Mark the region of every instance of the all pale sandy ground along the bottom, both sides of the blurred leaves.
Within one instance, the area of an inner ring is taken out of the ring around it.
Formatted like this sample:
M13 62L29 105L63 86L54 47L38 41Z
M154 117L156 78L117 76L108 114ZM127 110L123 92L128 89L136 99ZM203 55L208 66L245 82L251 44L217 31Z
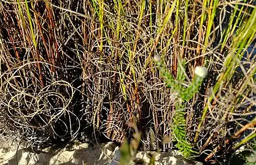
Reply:
M136 155L136 162L150 162L149 155L155 155L155 164L202 164L193 163L185 160L177 151L168 153L157 152L139 152ZM27 149L25 144L20 144L15 136L1 137L0 136L0 165L90 165L90 164L108 164L117 165L120 160L119 148L112 142L98 145L89 145L87 143L72 145L64 149L52 149L48 147L40 153L33 153L31 149ZM141 161L143 160L143 161ZM135 164L130 161L130 164Z

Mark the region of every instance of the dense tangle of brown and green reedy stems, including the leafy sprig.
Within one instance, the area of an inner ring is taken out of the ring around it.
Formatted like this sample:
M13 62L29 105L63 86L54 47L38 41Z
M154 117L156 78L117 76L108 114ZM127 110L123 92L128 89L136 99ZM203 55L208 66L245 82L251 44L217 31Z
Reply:
M13 0L0 10L1 133L35 150L122 143L134 121L138 150L213 163L253 145L254 0Z

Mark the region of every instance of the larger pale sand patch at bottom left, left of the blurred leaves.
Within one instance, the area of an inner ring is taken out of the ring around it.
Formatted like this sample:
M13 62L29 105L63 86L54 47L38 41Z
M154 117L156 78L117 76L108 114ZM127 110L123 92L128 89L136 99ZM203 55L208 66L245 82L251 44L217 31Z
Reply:
M45 164L109 164L114 155L116 145L113 143L89 146L89 144L77 144L69 149L54 150L51 147L34 154L31 149L26 149L12 138L0 140L0 164L3 165L45 165ZM18 150L17 150L18 147Z

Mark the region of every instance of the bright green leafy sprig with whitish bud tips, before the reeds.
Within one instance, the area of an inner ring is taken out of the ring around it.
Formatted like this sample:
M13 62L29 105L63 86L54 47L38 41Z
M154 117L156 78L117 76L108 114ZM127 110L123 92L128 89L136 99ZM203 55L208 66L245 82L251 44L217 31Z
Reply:
M184 76L184 62L180 62L177 70L177 79L174 80L173 75L169 73L166 69L165 64L159 55L154 57L158 69L160 70L160 75L165 78L166 86L171 88L171 92L176 97L175 104L175 114L173 122L173 133L177 140L176 147L182 152L182 154L187 158L192 156L192 153L196 153L192 149L192 145L187 141L187 132L185 128L185 101L190 100L193 95L198 92L198 88L203 81L203 78L207 75L207 70L204 67L195 68L195 78L193 78L192 83L188 87L182 86L185 82Z

